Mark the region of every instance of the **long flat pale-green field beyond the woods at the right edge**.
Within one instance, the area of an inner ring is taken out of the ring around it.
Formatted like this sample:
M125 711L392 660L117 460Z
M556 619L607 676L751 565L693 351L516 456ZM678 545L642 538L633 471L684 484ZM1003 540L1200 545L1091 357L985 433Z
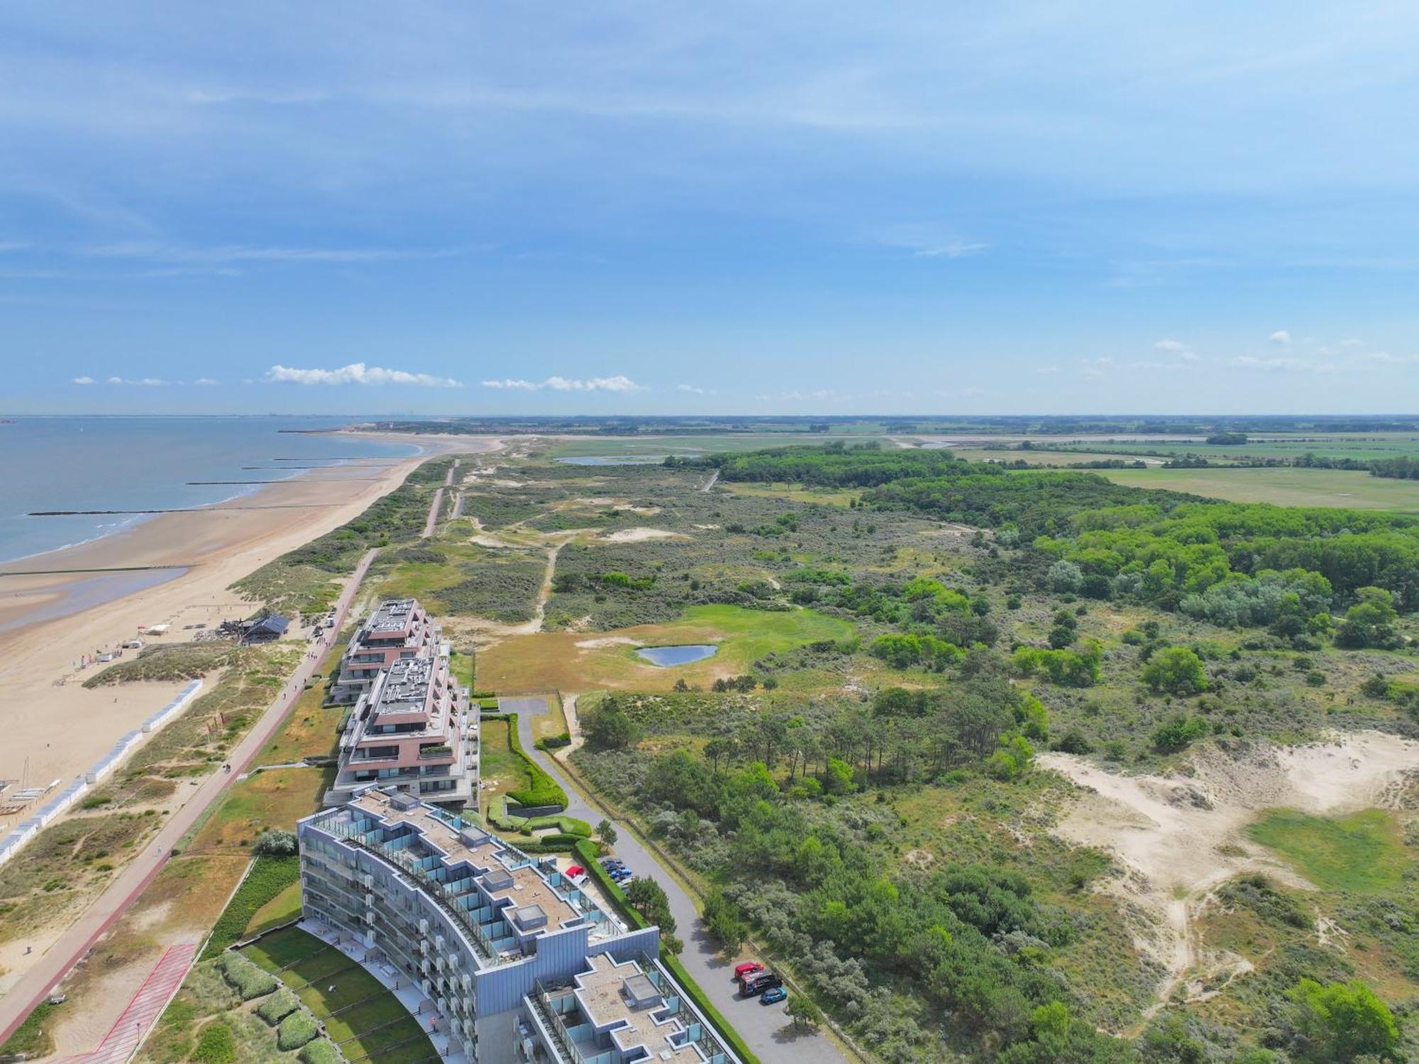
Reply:
M1349 470L1100 470L1114 484L1277 506L1419 511L1419 481Z

